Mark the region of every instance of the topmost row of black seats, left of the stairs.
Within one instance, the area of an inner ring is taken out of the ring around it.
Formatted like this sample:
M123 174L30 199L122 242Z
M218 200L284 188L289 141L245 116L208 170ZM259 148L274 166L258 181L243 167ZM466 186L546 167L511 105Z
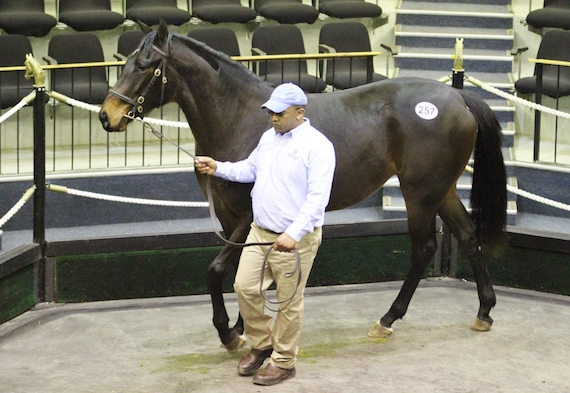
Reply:
M126 0L123 14L111 10L110 0L57 0L59 22L77 31L108 30L126 19L140 20L149 26L163 19L180 26L192 17L210 23L247 23L262 16L279 23L314 23L319 13L334 18L379 17L382 8L365 0L188 0L188 10L178 8L177 0ZM0 28L8 34L43 37L58 19L45 12L44 0L0 1Z

